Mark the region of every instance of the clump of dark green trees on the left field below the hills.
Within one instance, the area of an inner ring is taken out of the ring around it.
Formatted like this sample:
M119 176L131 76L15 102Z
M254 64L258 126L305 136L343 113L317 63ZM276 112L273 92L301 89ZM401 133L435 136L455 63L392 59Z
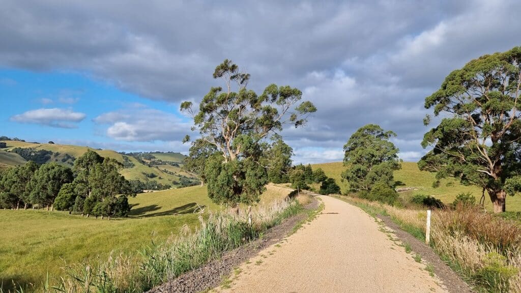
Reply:
M92 150L79 157L72 168L56 163L29 161L0 172L0 207L46 207L90 216L126 216L129 196L135 196L118 169L122 165Z

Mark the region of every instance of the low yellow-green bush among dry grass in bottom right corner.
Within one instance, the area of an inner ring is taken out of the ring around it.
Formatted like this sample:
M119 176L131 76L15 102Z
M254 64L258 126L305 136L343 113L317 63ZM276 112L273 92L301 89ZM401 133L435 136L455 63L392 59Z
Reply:
M474 277L475 281L487 288L489 292L510 291L508 281L517 275L518 269L507 265L506 258L497 252L487 253L483 262L485 266L478 270Z

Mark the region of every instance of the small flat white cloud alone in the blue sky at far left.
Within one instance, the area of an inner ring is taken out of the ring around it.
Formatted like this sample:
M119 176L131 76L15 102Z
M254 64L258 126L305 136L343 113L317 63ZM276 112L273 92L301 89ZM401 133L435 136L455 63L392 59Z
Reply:
M59 128L76 128L77 123L85 119L85 116L84 113L73 112L72 109L41 108L12 116L11 120Z

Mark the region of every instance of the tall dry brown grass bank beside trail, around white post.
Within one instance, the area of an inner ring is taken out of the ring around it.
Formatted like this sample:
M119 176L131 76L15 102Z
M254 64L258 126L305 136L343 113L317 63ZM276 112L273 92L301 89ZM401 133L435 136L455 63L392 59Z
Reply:
M371 215L389 215L403 230L425 240L425 210L399 209L339 197ZM521 225L479 207L432 212L431 247L478 291L521 292Z

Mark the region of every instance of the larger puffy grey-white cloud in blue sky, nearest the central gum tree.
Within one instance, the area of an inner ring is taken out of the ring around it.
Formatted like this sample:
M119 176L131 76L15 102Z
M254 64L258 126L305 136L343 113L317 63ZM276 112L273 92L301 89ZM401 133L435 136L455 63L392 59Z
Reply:
M94 122L106 126L106 136L122 141L181 141L190 129L178 116L144 105L104 113Z

